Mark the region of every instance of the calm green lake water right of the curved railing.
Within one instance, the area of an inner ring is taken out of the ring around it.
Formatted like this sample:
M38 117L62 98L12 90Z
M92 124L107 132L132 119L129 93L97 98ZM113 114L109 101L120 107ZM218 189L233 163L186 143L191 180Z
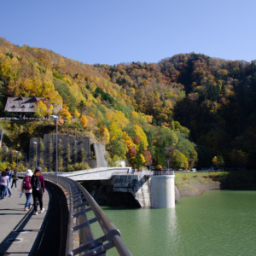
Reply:
M214 190L179 201L175 209L103 210L134 256L256 255L256 191Z

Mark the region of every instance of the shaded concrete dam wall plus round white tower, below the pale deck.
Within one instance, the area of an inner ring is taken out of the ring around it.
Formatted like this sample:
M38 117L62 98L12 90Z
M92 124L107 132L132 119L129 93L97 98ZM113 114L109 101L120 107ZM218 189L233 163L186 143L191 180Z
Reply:
M102 206L175 207L173 175L116 175L111 180L91 183L89 190Z

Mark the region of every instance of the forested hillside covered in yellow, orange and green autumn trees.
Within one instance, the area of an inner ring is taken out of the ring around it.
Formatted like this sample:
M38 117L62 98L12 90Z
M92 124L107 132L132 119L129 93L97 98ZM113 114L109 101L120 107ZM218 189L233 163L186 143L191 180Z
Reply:
M254 168L255 64L191 53L91 66L0 38L2 114L7 96L62 100L60 131L106 144L112 165L125 159L137 168L167 166L165 160L173 168L207 167L217 156L217 166L224 159L224 166ZM42 120L30 137L44 125L54 131ZM12 129L5 143L19 148Z

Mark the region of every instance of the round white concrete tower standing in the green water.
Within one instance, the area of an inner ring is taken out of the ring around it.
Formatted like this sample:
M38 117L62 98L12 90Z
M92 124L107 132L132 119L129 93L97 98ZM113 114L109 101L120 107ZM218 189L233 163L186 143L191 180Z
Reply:
M175 175L151 176L151 207L175 208Z

